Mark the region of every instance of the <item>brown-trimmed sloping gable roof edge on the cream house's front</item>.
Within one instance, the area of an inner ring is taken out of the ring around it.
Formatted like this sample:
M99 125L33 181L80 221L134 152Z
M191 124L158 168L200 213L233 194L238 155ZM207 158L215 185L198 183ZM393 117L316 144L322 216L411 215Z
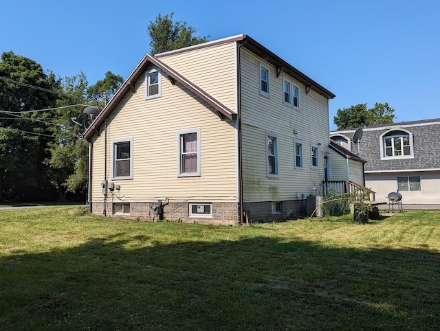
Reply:
M155 56L146 54L140 64L137 65L135 70L130 74L129 78L127 78L124 84L122 84L118 92L113 95L113 98L111 98L109 104L104 107L91 126L87 128L84 134L85 139L90 139L94 134L99 133L100 126L104 124L105 119L107 119L107 117L109 117L109 115L115 110L116 106L118 106L118 104L122 101L126 93L129 93L129 91L136 91L135 84L137 80L144 75L144 71L146 71L150 65L155 65L155 67L161 69L163 73L166 73L166 78L168 78L172 84L179 82L203 101L207 102L210 106L212 106L212 108L215 109L215 111L217 111L217 115L219 115L219 117L222 119L224 117L227 117L228 119L236 119L236 113L231 111L227 106L197 87L196 84L193 84L184 78L184 76L181 76L177 71L166 65L164 62L158 58L155 58Z

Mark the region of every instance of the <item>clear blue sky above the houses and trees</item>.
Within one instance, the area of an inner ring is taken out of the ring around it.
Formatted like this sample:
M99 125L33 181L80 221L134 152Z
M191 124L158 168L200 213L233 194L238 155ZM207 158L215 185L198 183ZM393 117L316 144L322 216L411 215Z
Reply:
M395 122L440 117L437 0L14 0L0 4L0 53L57 76L124 79L148 53L146 26L174 12L210 41L248 34L336 94L337 109L388 102Z

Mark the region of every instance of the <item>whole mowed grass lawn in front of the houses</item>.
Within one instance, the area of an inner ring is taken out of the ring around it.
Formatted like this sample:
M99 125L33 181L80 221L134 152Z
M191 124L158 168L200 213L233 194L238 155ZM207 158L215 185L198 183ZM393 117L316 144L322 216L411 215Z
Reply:
M0 211L0 330L439 330L440 211L249 227Z

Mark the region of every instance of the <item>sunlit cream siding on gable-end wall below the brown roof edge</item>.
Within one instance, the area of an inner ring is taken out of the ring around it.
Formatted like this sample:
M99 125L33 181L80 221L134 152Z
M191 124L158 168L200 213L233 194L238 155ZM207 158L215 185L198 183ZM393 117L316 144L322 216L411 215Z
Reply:
M144 77L107 119L107 178L111 181L111 139L133 137L133 179L113 180L113 202L236 202L236 130L180 84L162 77L162 97L145 100ZM177 131L200 129L201 176L177 176ZM92 201L102 201L105 133L95 139Z

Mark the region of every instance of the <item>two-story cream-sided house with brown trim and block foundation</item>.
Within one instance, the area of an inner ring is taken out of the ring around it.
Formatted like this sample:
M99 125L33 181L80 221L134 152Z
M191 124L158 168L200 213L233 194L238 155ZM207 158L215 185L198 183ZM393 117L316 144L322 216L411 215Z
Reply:
M224 225L301 214L325 179L334 97L245 35L147 54L85 133L89 208Z

